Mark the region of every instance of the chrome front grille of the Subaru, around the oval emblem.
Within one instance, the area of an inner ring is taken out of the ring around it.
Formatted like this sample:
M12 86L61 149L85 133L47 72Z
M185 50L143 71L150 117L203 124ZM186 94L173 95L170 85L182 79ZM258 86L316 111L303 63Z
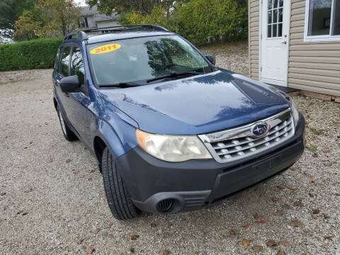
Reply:
M263 137L254 137L254 125L266 124L269 131ZM217 162L233 162L263 152L293 137L295 132L290 109L239 128L199 135Z

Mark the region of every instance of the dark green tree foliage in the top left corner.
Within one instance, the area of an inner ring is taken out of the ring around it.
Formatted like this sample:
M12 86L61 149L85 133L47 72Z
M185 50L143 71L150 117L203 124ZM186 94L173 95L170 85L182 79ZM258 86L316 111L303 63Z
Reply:
M0 29L14 28L14 24L23 11L34 8L34 0L1 0L0 1Z

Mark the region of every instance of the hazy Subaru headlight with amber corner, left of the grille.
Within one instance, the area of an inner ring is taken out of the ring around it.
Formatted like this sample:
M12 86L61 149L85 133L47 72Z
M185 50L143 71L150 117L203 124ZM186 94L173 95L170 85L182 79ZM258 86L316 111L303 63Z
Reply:
M145 152L167 162L212 158L196 135L156 135L136 130L136 137Z

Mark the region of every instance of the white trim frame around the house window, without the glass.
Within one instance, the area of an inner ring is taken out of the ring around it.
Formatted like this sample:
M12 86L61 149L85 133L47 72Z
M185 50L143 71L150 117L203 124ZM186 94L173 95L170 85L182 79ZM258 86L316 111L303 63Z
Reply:
M331 24L329 28L329 33L333 30L334 24L334 4L335 0L331 1ZM308 35L310 21L310 0L306 0L305 7L305 31L304 31L304 42L340 42L340 35Z

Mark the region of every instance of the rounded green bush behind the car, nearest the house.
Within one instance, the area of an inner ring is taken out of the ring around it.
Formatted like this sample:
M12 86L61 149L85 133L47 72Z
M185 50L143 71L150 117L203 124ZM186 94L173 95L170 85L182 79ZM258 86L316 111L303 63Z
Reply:
M193 0L176 11L178 33L197 45L242 40L247 36L246 8L234 0Z

